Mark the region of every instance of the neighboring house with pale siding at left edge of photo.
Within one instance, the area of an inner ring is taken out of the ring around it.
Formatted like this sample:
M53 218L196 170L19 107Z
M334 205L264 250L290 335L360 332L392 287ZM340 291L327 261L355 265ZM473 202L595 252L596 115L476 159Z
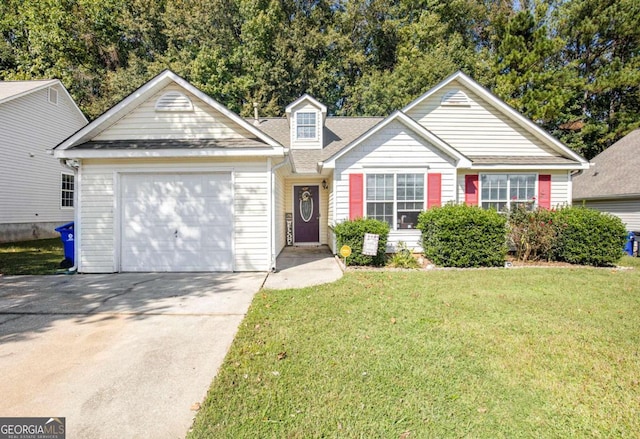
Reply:
M0 242L60 236L74 172L50 150L87 124L57 79L0 81Z

